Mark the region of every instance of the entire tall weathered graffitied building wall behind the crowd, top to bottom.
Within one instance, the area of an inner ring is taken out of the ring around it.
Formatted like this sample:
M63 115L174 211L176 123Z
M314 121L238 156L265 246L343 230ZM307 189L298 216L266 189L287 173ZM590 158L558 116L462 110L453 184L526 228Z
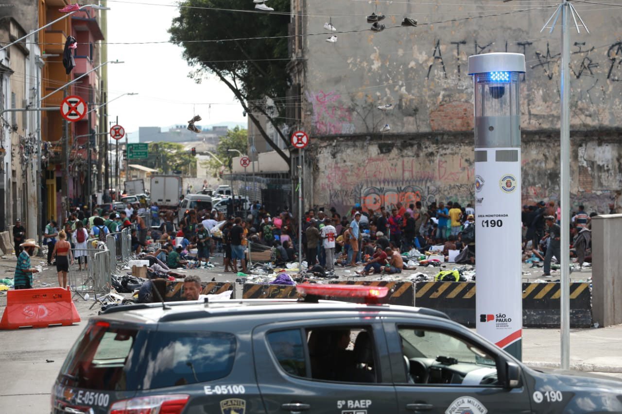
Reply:
M473 80L468 56L524 53L522 199L559 195L560 27L556 4L292 0L288 118L312 137L310 205L473 203ZM622 203L622 43L618 14L575 4L590 29L570 30L571 202ZM381 32L366 16L383 14ZM325 40L330 18L336 43ZM404 17L418 27L402 27ZM316 35L325 32L325 35ZM383 111L378 106L391 104ZM381 132L384 126L390 130Z

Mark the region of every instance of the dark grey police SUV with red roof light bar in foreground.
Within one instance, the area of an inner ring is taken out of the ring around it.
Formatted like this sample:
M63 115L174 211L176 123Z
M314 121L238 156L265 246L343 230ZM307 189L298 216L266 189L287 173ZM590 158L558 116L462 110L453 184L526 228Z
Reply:
M304 300L104 311L69 352L51 412L622 412L619 380L530 369L443 313L379 304L386 288L297 289Z

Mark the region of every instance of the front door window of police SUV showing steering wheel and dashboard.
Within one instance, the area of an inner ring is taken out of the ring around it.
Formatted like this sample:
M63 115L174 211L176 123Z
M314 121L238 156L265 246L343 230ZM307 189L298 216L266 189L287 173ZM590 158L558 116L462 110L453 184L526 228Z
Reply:
M498 385L494 358L451 334L399 326L404 369L411 384Z

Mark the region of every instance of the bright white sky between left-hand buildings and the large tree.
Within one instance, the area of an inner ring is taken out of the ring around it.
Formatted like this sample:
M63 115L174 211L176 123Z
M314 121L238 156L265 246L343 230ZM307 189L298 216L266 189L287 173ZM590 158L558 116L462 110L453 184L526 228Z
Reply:
M179 16L179 9L131 4L131 1L108 2L108 42L169 40L167 29L172 19ZM174 0L148 2L174 4ZM246 125L243 108L226 85L213 76L200 84L188 78L192 69L183 59L181 47L112 44L108 45L108 60L125 62L108 64L108 100L127 92L138 93L116 99L108 106L109 121L118 116L119 124L130 132L130 142L138 139L139 126L185 124L195 114L202 117L200 125L219 122Z

